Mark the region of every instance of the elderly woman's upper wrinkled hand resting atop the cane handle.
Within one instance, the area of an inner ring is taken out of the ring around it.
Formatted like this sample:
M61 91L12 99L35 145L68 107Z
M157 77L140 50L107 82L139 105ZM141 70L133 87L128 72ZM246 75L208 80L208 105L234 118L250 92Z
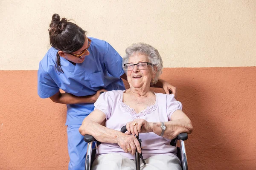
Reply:
M135 119L134 121L128 122L126 124L126 129L128 132L126 134L139 135L139 133L148 133L153 131L153 125L151 122L145 119Z

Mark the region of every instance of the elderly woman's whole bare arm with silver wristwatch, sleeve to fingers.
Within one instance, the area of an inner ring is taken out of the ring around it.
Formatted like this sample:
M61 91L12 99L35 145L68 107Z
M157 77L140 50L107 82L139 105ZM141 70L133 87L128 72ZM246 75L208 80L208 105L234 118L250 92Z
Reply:
M134 123L137 122L137 123ZM148 133L154 132L160 136L162 133L161 122L147 122L144 119L136 119L133 122L128 122L126 124L128 134L138 135L138 133ZM180 133L192 133L193 126L185 113L181 110L176 110L172 116L171 121L164 122L166 125L166 130L163 137L166 139L174 139Z

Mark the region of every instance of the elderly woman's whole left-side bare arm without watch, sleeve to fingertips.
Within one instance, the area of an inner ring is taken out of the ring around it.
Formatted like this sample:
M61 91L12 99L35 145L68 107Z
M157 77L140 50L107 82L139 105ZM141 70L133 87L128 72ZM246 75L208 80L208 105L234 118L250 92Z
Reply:
M118 144L126 153L135 154L136 148L141 153L140 143L135 136L100 125L105 119L106 115L96 109L84 119L79 127L79 132L83 136L92 135L99 142ZM131 148L131 150L127 148Z

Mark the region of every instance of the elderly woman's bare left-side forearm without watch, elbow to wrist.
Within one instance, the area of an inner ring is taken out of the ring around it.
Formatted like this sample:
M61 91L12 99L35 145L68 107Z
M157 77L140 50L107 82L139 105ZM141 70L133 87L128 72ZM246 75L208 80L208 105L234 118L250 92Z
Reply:
M109 129L94 121L84 121L79 128L79 132L83 136L92 135L97 141L104 143L117 143L118 138L124 135L122 132Z

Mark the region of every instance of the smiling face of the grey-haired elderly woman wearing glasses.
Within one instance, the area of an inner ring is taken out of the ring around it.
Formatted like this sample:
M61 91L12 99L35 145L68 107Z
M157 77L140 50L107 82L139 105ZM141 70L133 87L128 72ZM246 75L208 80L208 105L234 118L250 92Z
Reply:
M133 64L140 62L149 62L148 57L140 53L135 53L128 60L128 63ZM134 65L133 70L127 71L127 81L130 87L133 88L149 89L152 77L154 77L154 73L151 65L147 65L143 70L140 70L137 65Z

